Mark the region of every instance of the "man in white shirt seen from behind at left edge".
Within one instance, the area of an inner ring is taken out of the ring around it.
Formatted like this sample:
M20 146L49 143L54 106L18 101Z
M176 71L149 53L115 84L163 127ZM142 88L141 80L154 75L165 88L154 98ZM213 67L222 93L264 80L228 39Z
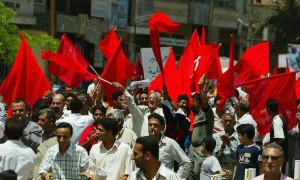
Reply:
M7 141L0 144L0 172L11 169L18 174L19 180L32 178L35 153L20 141L23 122L19 119L7 120L4 134Z

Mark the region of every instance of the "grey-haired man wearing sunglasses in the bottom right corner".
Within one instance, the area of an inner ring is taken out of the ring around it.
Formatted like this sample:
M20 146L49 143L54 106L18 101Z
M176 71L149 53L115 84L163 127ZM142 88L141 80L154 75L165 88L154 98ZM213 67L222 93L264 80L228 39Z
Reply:
M252 180L292 180L292 178L281 173L284 152L280 145L277 143L267 144L263 149L262 160L264 174Z

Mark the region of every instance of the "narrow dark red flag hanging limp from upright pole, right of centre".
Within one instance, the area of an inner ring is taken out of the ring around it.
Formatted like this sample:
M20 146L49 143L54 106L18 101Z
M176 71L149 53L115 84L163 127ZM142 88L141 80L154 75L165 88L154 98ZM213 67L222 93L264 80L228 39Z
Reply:
M223 106L227 98L230 98L234 94L234 38L230 36L230 55L229 55L229 68L222 74L217 80L217 91L220 97L219 108L223 109Z

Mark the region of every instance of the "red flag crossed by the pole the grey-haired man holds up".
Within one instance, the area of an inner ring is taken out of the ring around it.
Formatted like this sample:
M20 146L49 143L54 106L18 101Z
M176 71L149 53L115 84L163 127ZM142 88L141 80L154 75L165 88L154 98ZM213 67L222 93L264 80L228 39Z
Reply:
M101 78L110 82L118 82L125 86L126 79L132 78L134 73L134 65L127 60L121 48L121 40L119 40L114 55L112 56L112 59L108 61L105 69L101 74ZM103 81L101 81L100 83L105 91L109 105L112 105L112 93L114 91L119 91L119 89Z

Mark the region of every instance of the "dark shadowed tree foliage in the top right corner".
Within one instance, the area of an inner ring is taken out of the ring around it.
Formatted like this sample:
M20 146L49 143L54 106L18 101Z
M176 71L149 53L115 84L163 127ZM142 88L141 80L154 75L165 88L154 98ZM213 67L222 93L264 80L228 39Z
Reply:
M259 31L262 32L264 27L269 27L272 60L276 60L278 54L287 53L287 44L300 43L300 2L299 0L284 2L285 6L277 7Z

